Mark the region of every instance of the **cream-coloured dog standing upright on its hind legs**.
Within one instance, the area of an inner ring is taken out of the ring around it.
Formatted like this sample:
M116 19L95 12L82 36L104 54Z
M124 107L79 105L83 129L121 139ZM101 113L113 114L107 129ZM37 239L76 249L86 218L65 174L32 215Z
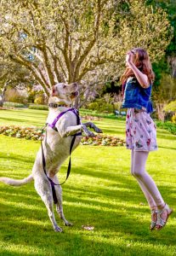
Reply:
M43 138L42 147L37 152L31 175L21 180L0 177L0 182L12 186L24 185L34 180L37 194L41 196L47 207L48 217L53 224L54 230L58 232L62 232L63 230L56 223L54 218L54 195L57 200L56 211L59 213L60 218L66 226L71 226L72 224L65 219L63 212L62 188L60 185L54 185L60 184L56 174L60 171L60 166L70 155L71 142L74 135L77 136L74 138L72 151L77 148L81 141L82 136L80 131L84 132L88 137L94 136L92 131L88 131L88 127L93 128L96 132L102 132L91 122L77 124L78 115L77 112L75 112L76 110L71 108L71 104L78 94L77 83L59 83L53 86L48 99L48 126L46 128L45 137ZM57 119L58 116L60 116L60 119ZM43 166L43 155L45 157L45 166ZM45 169L45 172L43 169ZM52 188L52 186L54 188Z

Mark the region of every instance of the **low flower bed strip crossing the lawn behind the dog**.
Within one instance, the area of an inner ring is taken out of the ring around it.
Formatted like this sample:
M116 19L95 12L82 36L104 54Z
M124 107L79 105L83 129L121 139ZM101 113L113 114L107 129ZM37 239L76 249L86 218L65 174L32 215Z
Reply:
M0 126L0 134L10 137L26 138L28 140L37 141L41 140L42 128L20 127L14 125ZM118 137L98 134L95 135L95 137L82 136L81 144L93 146L124 146L125 142L124 140Z

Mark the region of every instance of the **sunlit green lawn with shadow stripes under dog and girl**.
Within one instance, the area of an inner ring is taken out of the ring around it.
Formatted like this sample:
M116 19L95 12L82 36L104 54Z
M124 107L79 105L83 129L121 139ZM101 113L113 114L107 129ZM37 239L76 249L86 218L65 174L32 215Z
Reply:
M0 125L43 126L47 113L1 110ZM124 138L125 122L95 121L107 134ZM159 150L150 153L147 170L167 203L176 194L176 136L157 130ZM1 176L26 177L39 142L0 135ZM0 184L0 255L176 255L176 215L160 232L150 232L150 210L129 173L130 152L124 147L80 146L72 154L71 176L63 185L65 218L73 227L55 233L33 183L20 188ZM65 179L67 162L59 173ZM94 226L93 231L82 225Z

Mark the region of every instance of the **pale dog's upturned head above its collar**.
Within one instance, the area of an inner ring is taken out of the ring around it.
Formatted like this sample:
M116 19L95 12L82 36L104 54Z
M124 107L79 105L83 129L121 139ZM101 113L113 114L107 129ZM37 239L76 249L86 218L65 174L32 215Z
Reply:
M52 87L51 96L52 102L70 105L71 102L79 95L78 84L55 84Z

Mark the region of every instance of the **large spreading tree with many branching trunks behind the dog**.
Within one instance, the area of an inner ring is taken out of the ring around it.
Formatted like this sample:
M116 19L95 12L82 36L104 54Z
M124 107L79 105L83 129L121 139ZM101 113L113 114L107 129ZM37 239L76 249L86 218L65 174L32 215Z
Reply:
M88 96L119 77L129 48L145 47L155 61L171 39L166 13L144 0L1 0L0 12L0 49L47 95L53 84L77 81Z

